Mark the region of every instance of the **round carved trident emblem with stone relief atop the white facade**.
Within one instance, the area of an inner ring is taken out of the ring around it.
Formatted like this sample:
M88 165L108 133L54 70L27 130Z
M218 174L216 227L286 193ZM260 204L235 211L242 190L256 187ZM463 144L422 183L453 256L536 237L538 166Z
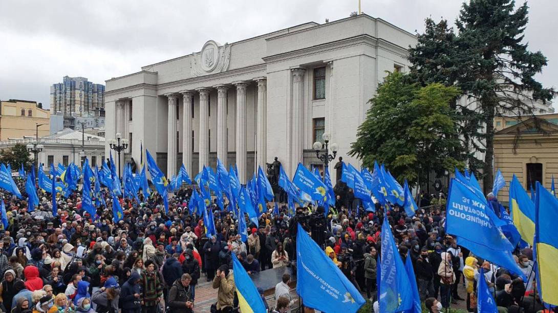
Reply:
M190 73L193 77L227 71L230 62L230 45L223 46L210 40L190 58Z

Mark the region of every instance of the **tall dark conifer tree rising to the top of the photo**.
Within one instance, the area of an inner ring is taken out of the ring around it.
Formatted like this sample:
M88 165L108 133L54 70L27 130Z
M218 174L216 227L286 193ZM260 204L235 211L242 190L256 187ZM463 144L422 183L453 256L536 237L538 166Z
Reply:
M527 3L515 9L513 0L470 0L456 20L457 35L445 21L427 19L427 31L410 51L415 79L455 85L463 93L455 106L463 124L459 135L464 146L484 152L485 192L493 183L494 117L534 116L533 102L556 95L534 78L547 60L523 43L527 14Z

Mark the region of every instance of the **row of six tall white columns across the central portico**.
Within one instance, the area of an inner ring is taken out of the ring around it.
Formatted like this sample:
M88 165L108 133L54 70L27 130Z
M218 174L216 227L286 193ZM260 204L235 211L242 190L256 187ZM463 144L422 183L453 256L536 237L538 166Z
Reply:
M266 140L267 140L267 99L266 99L266 78L258 77L255 79L258 84L258 115L257 115L257 137L256 149L258 165L263 166L266 163ZM247 168L246 168L246 90L248 88L247 81L235 81L232 83L236 88L236 164L238 168L238 178L240 183L246 183ZM227 162L227 92L229 86L215 85L217 89L217 157L222 162ZM192 90L180 91L184 101L184 110L182 114L182 163L186 165L186 170L190 172L190 164L192 164L192 141L190 134L192 133L192 114L191 106L194 105L193 97L195 92L198 92L200 98L200 116L199 116L199 169L204 165L209 164L209 93L210 89L201 87ZM176 105L178 105L177 94L165 94L169 103L168 114L168 136L167 136L167 176L172 177L176 175L176 156L178 154L178 147L176 146ZM118 116L118 115L117 115ZM193 175L194 173L189 173Z

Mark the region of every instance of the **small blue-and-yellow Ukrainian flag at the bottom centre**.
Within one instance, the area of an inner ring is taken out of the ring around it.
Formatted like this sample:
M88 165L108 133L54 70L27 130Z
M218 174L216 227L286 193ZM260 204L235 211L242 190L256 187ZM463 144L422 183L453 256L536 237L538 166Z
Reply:
M237 256L233 253L233 273L234 285L237 287L238 306L242 313L265 312L266 306L263 305L262 297L248 276Z

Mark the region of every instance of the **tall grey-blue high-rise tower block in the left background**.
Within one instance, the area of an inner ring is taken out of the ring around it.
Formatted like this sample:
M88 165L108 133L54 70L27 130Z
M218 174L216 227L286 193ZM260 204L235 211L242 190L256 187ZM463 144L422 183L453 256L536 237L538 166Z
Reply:
M93 84L85 77L69 77L50 87L51 133L64 128L76 129L104 125L105 86Z

